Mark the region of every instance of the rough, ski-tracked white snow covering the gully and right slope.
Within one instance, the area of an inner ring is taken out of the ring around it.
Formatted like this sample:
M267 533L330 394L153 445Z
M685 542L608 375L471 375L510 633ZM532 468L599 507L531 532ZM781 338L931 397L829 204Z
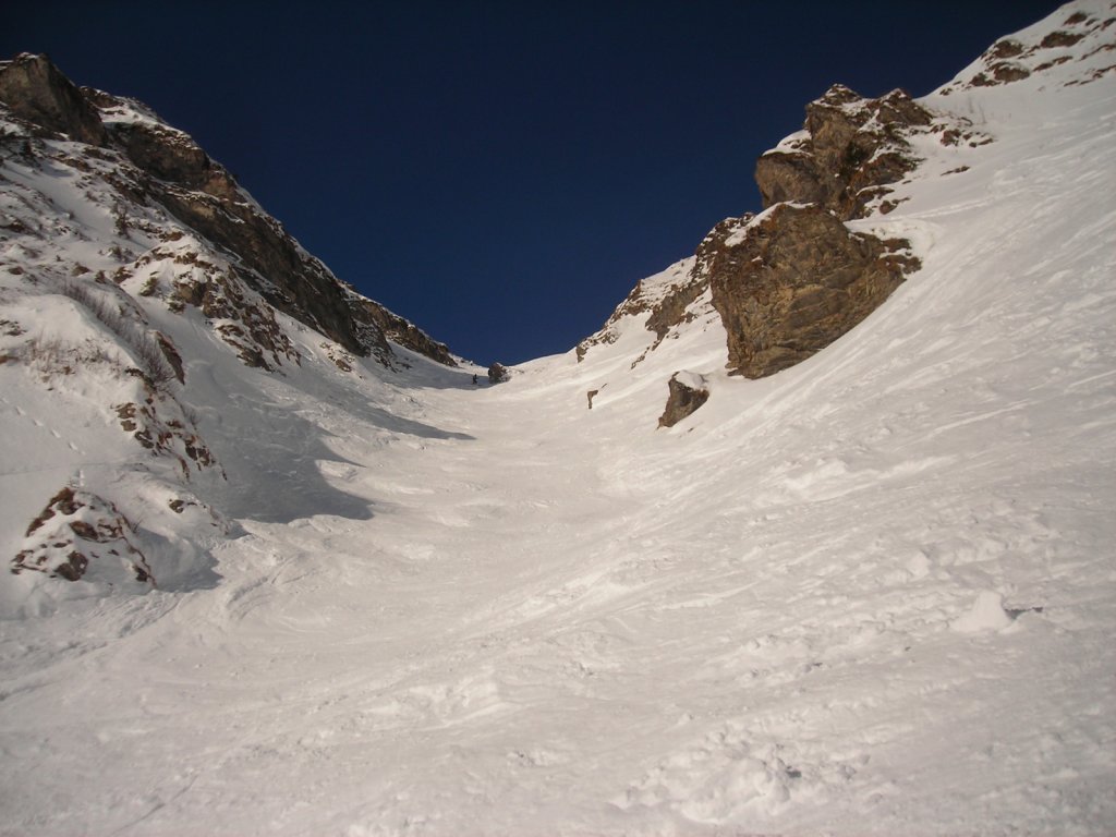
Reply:
M764 381L708 299L634 368L645 314L496 386L166 325L229 523L148 593L6 574L0 834L1116 831L1116 74L1081 73L923 99L994 140L926 140L858 222L923 269ZM656 430L680 369L711 398ZM13 554L135 443L0 385Z

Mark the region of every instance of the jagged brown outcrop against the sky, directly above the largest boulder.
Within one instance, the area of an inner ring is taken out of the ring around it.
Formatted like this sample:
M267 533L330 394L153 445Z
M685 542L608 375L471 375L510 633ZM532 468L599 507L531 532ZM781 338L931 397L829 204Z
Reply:
M870 214L887 185L917 165L906 132L932 118L903 90L866 99L834 85L807 105L804 131L756 164L764 209L792 201L819 204L843 221Z

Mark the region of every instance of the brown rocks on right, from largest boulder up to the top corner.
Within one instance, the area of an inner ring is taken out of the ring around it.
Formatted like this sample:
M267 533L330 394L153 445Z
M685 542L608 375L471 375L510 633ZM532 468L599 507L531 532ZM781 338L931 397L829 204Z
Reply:
M1110 51L1103 33L1114 26L1116 18L1077 11L1036 42L1004 38L940 95L1010 84ZM1100 46L1077 55L1074 48L1086 38ZM1110 71L1116 61L1070 84ZM917 142L975 147L992 140L964 117L934 114L903 90L870 99L835 85L807 105L801 131L760 157L756 182L766 211L715 228L698 250L690 283L708 283L728 334L731 372L763 377L806 359L918 269L906 240L844 223L896 209L895 185L922 162Z

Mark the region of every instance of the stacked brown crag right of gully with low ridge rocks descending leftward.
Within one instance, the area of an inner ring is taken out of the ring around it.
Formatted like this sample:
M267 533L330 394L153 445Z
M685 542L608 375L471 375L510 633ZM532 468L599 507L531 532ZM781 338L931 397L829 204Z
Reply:
M918 268L906 240L847 222L898 205L893 187L920 163L912 141L927 136L987 142L903 90L870 99L833 86L807 105L802 129L757 163L764 211L718 224L683 262L685 273L654 294L641 283L600 333L581 341L578 356L614 339L617 321L643 311L654 350L702 305L721 318L733 374L763 377L825 348Z

